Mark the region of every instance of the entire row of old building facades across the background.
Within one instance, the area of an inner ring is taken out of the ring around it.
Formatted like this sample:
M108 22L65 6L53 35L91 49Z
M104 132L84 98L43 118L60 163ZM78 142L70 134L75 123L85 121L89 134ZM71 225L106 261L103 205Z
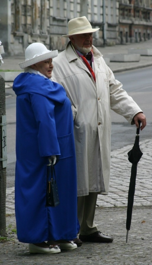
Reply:
M143 6L144 2L144 6ZM151 0L1 0L0 39L5 54L23 54L32 42L65 49L70 19L86 16L96 46L151 38Z

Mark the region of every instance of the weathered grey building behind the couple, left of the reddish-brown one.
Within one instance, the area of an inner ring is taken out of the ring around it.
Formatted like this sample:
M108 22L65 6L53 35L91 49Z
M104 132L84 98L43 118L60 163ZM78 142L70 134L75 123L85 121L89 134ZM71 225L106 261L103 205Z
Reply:
M70 19L86 16L94 33L94 44L115 44L118 39L118 0L1 0L0 37L6 54L22 54L32 42L48 49L63 50L68 42Z

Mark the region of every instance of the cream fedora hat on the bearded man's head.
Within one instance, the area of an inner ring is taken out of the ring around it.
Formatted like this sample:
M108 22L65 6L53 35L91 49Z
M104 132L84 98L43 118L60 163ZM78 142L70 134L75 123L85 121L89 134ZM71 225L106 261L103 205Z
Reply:
M92 29L92 26L86 16L76 17L68 21L68 35L62 35L63 37L70 37L76 34L92 33L98 29Z

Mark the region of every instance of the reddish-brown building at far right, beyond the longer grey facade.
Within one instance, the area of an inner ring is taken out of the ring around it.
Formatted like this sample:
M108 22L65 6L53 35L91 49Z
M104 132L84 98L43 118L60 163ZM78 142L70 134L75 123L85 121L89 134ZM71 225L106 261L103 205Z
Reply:
M140 42L152 36L152 1L119 1L120 43Z

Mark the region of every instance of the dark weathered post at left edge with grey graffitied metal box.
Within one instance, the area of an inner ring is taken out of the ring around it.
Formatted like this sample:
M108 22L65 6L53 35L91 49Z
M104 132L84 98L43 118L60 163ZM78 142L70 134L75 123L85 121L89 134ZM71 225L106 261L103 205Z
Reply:
M0 236L6 236L6 107L5 81L0 75Z

